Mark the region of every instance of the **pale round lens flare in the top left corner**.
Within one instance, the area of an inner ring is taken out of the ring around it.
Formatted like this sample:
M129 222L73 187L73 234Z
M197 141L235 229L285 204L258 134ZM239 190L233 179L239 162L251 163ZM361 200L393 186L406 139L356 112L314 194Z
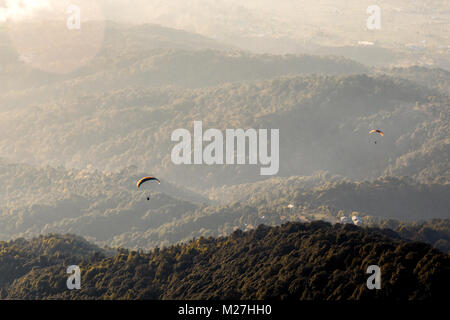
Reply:
M10 0L1 21L19 60L49 73L89 64L103 44L105 19L94 0Z

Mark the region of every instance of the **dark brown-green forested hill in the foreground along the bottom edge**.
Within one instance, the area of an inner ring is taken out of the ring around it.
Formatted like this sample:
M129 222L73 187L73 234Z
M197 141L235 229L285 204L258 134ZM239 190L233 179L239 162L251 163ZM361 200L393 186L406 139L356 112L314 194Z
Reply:
M60 236L34 241L60 241ZM70 243L77 246L80 240ZM17 270L35 261L27 242L2 243L0 259ZM288 223L200 238L150 253L121 250L71 259L70 247L22 272L0 273L7 299L445 299L450 257L393 231L325 222ZM27 261L27 257L28 260ZM66 289L66 268L80 263L82 289ZM4 266L4 264L0 264ZM381 268L381 290L366 269Z

